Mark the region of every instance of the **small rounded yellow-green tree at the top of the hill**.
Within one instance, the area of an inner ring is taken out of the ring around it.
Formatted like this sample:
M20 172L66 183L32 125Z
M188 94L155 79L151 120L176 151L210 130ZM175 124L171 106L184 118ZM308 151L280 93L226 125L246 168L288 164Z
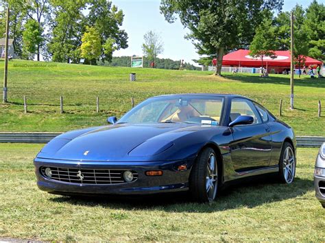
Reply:
M86 29L87 31L82 36L81 56L92 61L97 59L101 53L101 40L94 27Z

